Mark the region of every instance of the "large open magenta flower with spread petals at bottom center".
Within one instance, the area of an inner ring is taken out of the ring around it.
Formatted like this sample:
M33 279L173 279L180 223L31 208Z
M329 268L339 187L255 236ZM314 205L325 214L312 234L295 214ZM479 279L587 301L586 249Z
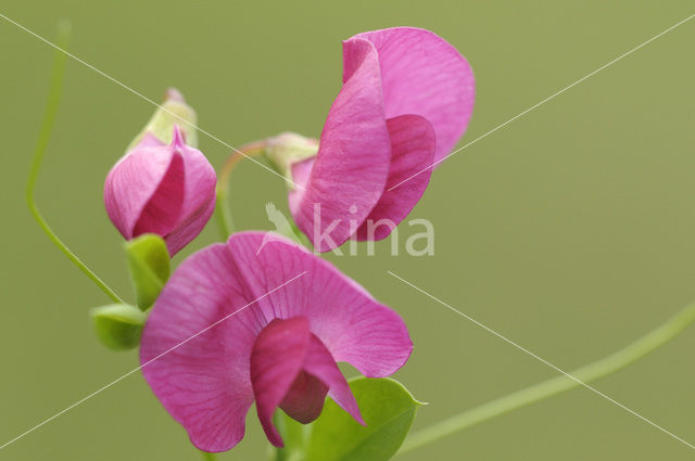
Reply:
M276 446L275 410L307 423L326 395L364 424L336 362L387 376L413 348L399 315L357 283L285 238L261 246L264 236L237 233L186 259L142 333L147 382L205 451L241 440L254 400Z

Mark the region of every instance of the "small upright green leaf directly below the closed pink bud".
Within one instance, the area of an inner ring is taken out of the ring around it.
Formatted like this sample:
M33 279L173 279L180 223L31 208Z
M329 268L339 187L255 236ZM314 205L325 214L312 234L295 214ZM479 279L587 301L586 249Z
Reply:
M169 253L164 240L153 233L126 242L125 248L138 306L146 310L154 304L169 278Z

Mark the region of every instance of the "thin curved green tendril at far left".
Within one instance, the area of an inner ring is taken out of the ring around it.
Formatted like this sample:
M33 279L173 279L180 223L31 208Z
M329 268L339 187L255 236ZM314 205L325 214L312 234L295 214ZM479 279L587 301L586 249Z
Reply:
M59 24L59 46L62 49L67 48L67 41L70 38L70 24L62 22ZM79 270L85 273L92 282L97 284L115 303L123 303L123 300L111 290L94 272L92 272L87 265L85 265L53 232L46 219L41 216L36 201L34 199L34 189L36 188L36 180L39 175L41 162L43 161L43 154L48 148L49 139L51 138L51 131L55 125L55 116L58 114L58 106L61 99L63 89L63 75L65 74L65 61L66 54L60 50L55 51L55 60L53 62L53 71L51 76L51 87L49 90L48 100L46 102L46 112L43 114L43 121L41 123L41 129L39 131L39 138L34 151L34 159L31 162L31 168L29 169L29 178L26 184L26 203L29 207L29 212L36 219L36 222L41 227L46 235L53 242L58 248L63 252L67 258L73 261Z

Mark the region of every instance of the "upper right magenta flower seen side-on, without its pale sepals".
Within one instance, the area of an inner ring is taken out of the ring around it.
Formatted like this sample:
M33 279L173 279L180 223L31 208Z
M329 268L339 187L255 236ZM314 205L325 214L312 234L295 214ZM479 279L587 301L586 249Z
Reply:
M343 66L317 156L290 170L302 187L290 192L290 209L320 252L352 235L389 235L425 192L428 167L466 130L473 107L470 66L429 30L358 34L343 42Z

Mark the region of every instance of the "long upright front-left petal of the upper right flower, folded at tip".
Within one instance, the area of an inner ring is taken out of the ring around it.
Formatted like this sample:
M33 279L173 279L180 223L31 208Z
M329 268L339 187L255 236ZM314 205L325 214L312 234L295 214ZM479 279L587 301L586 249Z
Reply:
M344 243L369 215L391 159L376 49L356 40L345 59L354 72L328 113L311 175L298 182L305 190L289 196L296 225L319 252Z

